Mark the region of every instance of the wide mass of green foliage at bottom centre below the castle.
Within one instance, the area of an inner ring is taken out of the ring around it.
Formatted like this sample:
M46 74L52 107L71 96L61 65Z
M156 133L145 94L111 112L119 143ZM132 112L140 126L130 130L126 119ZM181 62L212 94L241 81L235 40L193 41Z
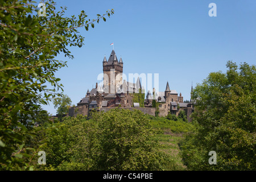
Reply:
M65 118L44 129L41 149L55 170L160 170L165 156L151 140L155 131L139 110L112 109ZM38 142L35 142L38 143Z

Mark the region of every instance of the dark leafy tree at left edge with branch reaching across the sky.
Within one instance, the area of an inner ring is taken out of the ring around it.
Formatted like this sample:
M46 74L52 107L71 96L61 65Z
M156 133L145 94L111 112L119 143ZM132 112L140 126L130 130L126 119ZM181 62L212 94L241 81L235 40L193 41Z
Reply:
M63 90L55 72L67 62L55 57L62 53L72 59L68 47L84 44L78 28L88 30L113 14L109 10L90 20L81 11L65 17L66 7L56 12L55 2L45 4L46 16L38 16L31 1L0 1L0 169L28 169L22 153L30 147L24 141L43 111L41 105Z

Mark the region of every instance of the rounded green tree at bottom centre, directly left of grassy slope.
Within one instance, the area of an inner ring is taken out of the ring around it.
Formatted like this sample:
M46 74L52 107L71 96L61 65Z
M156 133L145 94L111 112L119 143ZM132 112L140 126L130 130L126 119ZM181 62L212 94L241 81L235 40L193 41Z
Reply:
M100 130L100 155L97 169L101 170L160 170L163 155L150 120L139 110L112 109L94 113L93 121Z

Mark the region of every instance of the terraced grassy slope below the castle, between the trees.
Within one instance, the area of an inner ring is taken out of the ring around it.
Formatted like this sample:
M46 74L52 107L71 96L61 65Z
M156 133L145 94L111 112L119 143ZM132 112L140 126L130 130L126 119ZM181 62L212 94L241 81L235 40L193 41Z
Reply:
M193 125L178 119L171 121L163 117L151 117L151 125L158 129L158 134L154 140L158 140L161 144L161 150L168 155L168 160L164 170L185 170L185 166L181 162L179 156L179 141L183 138L184 133L192 131Z

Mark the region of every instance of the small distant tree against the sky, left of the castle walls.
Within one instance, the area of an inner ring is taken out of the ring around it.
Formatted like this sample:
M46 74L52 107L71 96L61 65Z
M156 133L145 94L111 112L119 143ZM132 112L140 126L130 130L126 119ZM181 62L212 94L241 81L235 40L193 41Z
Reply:
M67 95L57 97L53 99L54 108L57 108L58 118L62 121L63 115L68 113L68 109L71 106L72 101Z

